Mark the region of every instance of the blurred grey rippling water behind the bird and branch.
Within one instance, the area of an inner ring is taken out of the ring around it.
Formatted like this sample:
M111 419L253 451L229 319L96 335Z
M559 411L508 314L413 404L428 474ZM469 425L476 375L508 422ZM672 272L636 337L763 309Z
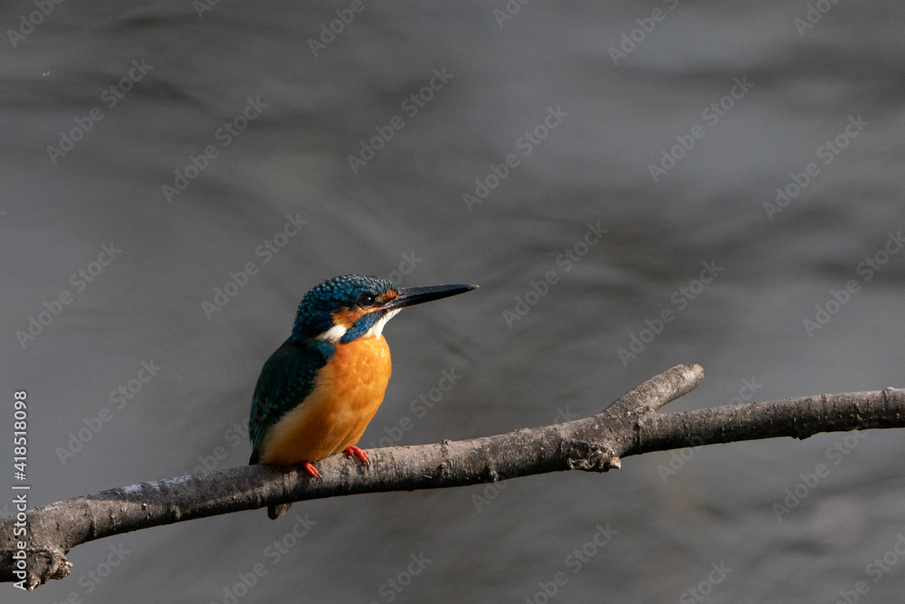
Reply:
M0 9L34 504L243 465L263 360L341 273L481 285L386 329L365 446L584 417L683 362L665 410L903 385L900 3L35 6ZM860 436L180 523L27 601L898 601L905 444Z

